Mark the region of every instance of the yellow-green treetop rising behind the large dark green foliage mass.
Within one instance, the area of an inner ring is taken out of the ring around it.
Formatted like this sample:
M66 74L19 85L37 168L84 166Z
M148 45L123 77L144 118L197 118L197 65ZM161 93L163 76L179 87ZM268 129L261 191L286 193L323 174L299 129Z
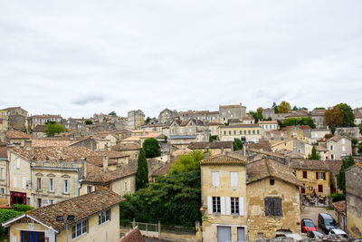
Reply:
M181 155L171 165L170 173L174 170L177 172L188 172L200 169L201 160L204 160L204 152L201 150L195 150L186 155Z

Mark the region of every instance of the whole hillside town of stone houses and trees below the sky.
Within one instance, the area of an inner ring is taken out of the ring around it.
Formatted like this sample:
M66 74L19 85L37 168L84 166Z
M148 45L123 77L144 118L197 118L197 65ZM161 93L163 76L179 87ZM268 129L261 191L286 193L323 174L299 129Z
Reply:
M362 237L362 107L0 110L6 241Z

